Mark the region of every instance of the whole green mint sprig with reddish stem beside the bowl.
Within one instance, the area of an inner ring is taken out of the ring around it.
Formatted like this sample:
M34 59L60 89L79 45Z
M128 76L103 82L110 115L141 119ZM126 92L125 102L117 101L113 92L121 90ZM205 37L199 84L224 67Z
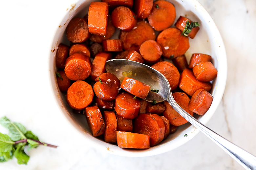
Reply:
M9 135L0 133L0 162L9 161L14 156L18 164L27 164L29 156L24 151L26 145L29 146L28 151L38 145L57 147L40 142L32 131L27 131L22 124L13 123L5 116L0 119L0 124L9 130Z

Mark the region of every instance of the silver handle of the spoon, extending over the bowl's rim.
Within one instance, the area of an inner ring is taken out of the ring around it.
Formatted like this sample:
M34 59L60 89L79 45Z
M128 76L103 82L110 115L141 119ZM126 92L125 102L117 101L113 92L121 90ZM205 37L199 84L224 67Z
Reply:
M246 152L242 148L226 140L219 134L215 133L208 127L204 126L201 122L195 119L193 116L183 110L174 100L172 95L167 99L169 104L175 109L182 117L184 117L189 123L194 125L200 131L202 131L213 142L219 145L227 154L229 154L234 160L241 164L247 170L256 170L256 157Z

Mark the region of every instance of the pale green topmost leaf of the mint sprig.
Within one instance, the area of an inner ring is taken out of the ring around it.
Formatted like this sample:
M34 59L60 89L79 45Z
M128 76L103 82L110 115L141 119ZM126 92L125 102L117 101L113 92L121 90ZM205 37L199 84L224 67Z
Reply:
M2 117L0 119L0 124L9 130L9 136L12 141L19 141L21 139L26 139L24 135L27 130L20 123L12 123L7 117Z

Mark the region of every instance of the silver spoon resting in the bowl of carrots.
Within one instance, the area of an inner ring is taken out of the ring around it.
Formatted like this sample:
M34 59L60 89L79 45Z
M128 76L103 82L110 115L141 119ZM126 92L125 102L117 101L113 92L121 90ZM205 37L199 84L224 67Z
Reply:
M106 62L106 70L117 76L122 82L125 74L130 78L134 78L149 85L152 89L159 89L158 93L149 92L146 101L162 102L168 101L169 104L184 117L188 122L202 131L213 142L219 145L234 160L240 163L247 170L256 170L256 157L246 152L237 145L229 142L219 134L215 133L208 127L183 110L174 100L168 80L159 71L136 61L126 59L111 59Z

